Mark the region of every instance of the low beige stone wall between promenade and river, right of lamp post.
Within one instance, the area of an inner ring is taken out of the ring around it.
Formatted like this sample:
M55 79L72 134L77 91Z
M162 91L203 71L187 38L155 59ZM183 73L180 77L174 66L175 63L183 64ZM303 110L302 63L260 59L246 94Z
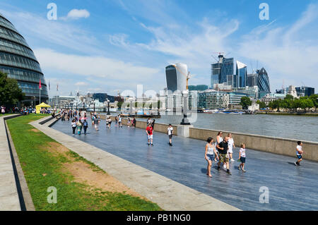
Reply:
M232 133L235 141L235 146L240 147L240 143L245 143L246 147L252 150L259 150L263 152L271 152L275 154L283 154L290 157L295 157L296 146L298 140L287 138L273 138L262 135L251 135L245 133L235 133L223 130L208 130L201 128L190 128L190 137L199 140L207 140L208 137L214 138L218 135L218 131L223 132L223 137ZM318 143L302 141L302 149L304 159L309 159L318 162Z

